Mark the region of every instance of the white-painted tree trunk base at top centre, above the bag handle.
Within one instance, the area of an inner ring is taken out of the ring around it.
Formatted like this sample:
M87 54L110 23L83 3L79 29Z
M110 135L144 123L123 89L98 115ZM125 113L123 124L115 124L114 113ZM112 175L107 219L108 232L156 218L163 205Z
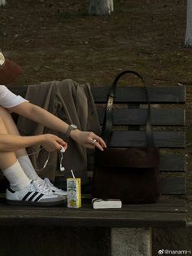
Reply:
M113 0L90 0L90 15L106 15L113 11Z

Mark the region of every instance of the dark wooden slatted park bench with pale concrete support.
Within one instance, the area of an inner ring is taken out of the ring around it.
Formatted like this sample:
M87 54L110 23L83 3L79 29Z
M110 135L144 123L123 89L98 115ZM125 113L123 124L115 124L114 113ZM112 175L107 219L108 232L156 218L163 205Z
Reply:
M26 88L11 87L11 90L24 96ZM92 86L91 90L102 124L109 86ZM45 210L2 202L0 225L111 227L112 256L151 255L153 227L185 227L185 86L149 86L149 92L151 104L155 104L151 113L155 142L161 152L161 197L157 203L123 205L118 210L94 210L87 203L78 210L63 206ZM145 146L142 130L146 120L145 104L143 87L118 88L112 146ZM91 176L93 157L89 159L88 169Z

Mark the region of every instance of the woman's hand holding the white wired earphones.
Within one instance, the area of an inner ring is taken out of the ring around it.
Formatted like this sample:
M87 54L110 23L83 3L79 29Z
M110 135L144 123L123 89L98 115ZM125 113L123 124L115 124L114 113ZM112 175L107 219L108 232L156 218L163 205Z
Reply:
M56 135L42 135L43 140L42 140L42 147L46 149L48 152L53 152L55 150L60 150L61 146L66 150L68 148L68 144L63 140L60 139Z

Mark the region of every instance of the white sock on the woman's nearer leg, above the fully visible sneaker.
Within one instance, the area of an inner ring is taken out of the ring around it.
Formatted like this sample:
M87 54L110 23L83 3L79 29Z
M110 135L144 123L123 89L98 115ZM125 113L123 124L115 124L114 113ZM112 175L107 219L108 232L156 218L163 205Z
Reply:
M30 179L24 173L19 161L15 161L15 164L8 167L6 170L2 170L2 173L10 182L11 188L15 191L24 189L30 183Z

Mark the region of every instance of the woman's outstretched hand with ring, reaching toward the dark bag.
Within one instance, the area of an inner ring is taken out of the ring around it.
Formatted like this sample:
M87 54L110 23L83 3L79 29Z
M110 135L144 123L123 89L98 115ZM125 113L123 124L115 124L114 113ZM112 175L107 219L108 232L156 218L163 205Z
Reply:
M101 151L103 151L103 148L107 148L104 140L98 135L95 135L92 131L72 130L70 132L70 137L86 148L94 149L97 147Z

